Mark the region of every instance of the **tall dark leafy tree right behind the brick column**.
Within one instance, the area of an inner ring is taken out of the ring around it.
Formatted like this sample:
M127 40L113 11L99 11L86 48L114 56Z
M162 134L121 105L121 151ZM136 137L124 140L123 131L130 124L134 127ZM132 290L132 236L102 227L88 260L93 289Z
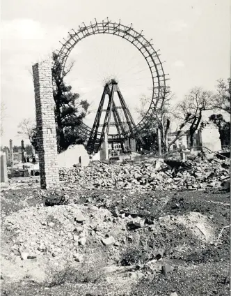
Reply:
M70 73L73 64L64 72L61 63L58 61L58 54L53 54L53 60L54 112L58 152L61 152L72 144L83 143L78 126L82 124L83 118L86 117L89 103L86 100L79 101L79 94L72 92L72 87L64 82L64 78Z

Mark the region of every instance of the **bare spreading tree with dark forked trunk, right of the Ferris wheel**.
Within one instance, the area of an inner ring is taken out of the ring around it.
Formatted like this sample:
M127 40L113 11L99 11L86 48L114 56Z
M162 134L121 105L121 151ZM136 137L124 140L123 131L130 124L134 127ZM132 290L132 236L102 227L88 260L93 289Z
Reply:
M214 94L205 91L201 87L195 87L189 91L184 100L177 104L178 112L175 116L182 121L182 127L189 126L190 145L193 146L193 135L200 126L202 112L214 108Z

